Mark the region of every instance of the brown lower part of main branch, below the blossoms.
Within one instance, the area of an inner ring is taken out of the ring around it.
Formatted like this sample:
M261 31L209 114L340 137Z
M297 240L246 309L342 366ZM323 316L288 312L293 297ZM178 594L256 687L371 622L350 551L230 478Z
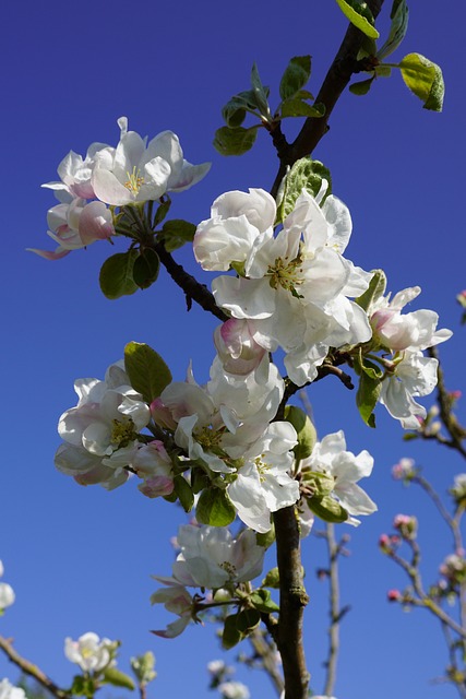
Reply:
M275 641L282 655L285 699L307 699L310 675L306 667L302 617L306 593L299 526L294 506L274 512L280 612Z

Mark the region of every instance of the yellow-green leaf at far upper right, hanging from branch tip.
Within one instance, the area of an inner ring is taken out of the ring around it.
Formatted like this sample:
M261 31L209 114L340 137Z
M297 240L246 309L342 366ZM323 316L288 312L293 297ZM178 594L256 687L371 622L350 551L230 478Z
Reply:
M407 87L423 102L423 108L442 111L445 85L441 68L420 54L408 54L398 68Z

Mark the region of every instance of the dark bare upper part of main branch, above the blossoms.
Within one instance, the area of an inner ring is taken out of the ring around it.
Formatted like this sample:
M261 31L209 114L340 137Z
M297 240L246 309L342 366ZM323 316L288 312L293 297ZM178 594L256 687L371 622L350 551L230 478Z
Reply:
M368 0L368 7L374 19L379 15L382 4L383 0ZM365 35L362 32L350 24L315 97L316 103L325 106L325 115L320 118L309 117L294 143L285 146L284 141L279 142L280 149L277 149L277 153L280 165L271 190L273 197L277 194L288 165L292 165L299 158L311 154L322 137L328 131L330 116L354 73L367 68L365 61L357 60L363 40Z

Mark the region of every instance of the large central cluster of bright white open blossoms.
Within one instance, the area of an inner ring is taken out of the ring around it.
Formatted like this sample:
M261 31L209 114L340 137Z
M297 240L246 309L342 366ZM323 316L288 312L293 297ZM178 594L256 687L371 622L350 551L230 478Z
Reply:
M371 275L343 257L351 218L332 194L320 205L326 186L323 180L316 198L303 190L277 235L276 204L267 192L227 192L214 201L193 242L204 270L237 272L212 286L217 305L241 321L249 353L282 347L298 386L315 378L330 346L372 334L366 312L349 300L367 289Z

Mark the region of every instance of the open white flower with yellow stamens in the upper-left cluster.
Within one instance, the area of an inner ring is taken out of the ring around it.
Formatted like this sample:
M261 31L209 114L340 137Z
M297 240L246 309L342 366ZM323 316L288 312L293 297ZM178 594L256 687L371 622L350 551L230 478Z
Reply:
M167 191L182 191L201 180L211 165L183 158L178 137L164 131L148 143L118 119L120 142L95 154L92 187L97 199L113 206L155 201Z

